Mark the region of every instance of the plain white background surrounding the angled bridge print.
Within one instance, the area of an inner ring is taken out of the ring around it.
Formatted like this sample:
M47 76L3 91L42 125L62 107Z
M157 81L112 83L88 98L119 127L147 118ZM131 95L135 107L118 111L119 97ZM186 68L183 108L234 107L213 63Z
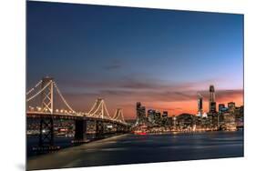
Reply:
M48 0L47 0L48 1ZM253 170L255 146L255 8L251 0L61 0L96 5L121 5L191 11L245 14L245 157L189 162L169 162L128 166L99 166L67 170ZM26 73L26 2L1 1L0 5L0 146L1 170L25 169L25 73ZM254 9L253 9L254 8ZM157 155L157 154L156 154ZM62 169L56 169L62 170Z

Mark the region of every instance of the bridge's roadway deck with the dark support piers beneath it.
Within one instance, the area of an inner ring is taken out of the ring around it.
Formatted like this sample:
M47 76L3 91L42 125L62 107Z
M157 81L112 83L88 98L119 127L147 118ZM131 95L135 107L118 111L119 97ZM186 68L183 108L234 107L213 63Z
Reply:
M54 120L67 119L75 121L75 138L74 143L87 142L87 121L93 121L96 123L96 138L103 138L104 135L109 134L105 132L104 124L110 124L115 127L115 133L125 134L129 131L127 123L123 123L113 118L108 117L96 117L85 116L81 114L63 114L63 113L43 113L43 112L26 112L26 118L39 119L39 136L38 146L35 147L36 151L51 151L59 149L54 144Z

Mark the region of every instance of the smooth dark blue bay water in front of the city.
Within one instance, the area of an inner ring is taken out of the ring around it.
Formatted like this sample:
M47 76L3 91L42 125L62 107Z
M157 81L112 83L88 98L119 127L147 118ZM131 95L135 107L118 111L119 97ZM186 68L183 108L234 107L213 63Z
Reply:
M123 135L82 146L68 147L53 154L30 156L27 166L28 169L45 169L238 156L243 156L242 131L148 136Z

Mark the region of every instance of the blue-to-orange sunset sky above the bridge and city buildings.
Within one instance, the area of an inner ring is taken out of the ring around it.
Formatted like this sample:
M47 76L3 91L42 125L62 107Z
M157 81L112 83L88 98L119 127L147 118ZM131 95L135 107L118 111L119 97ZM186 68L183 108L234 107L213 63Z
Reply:
M196 114L198 93L208 111L209 85L243 105L242 15L53 4L27 2L28 89L50 75L74 108L103 97L126 118L137 102Z

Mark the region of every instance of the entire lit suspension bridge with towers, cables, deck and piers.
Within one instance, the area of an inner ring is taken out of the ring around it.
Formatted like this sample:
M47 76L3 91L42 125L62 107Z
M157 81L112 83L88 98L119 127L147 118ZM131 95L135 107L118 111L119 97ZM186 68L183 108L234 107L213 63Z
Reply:
M57 109L54 98L60 97L65 108ZM62 120L72 120L75 124L74 141L84 143L87 140L87 122L95 123L96 138L108 134L106 125L114 127L114 133L125 134L129 131L122 108L117 108L114 115L109 115L103 98L97 98L87 112L73 109L60 92L53 77L43 77L34 87L26 92L26 118L39 120L38 147L36 149L55 149L55 124ZM57 147L58 148L58 147Z

